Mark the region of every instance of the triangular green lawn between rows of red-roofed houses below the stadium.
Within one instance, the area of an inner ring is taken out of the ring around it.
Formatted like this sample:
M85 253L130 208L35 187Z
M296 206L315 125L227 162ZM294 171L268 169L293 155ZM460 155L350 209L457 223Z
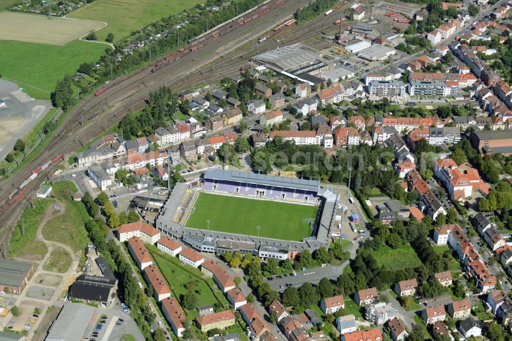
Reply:
M176 257L160 254L160 251L154 246L148 246L148 250L178 301L180 296L187 292L184 284L190 281L195 281L197 283L197 286L194 288L194 291L197 294L196 307L207 304L213 306L214 304L219 303L219 300L222 300L221 304L227 306L228 302L220 290L217 290L217 295L212 293L210 286L214 286L215 288L217 287L211 279L209 286L203 279L203 273L199 269L180 265L180 261ZM186 309L183 310L187 311ZM199 312L196 309L190 310L187 311L187 316L190 319L193 319L199 316Z

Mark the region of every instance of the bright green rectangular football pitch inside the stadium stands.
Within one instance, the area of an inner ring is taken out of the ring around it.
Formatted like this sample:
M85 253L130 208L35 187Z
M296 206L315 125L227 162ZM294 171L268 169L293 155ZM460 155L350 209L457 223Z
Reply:
M318 206L200 193L185 226L257 236L302 241L311 236L311 222Z

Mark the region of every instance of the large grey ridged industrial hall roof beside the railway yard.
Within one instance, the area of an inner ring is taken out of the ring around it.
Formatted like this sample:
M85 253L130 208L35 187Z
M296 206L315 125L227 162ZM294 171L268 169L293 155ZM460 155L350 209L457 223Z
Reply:
M287 71L307 65L310 62L321 59L321 57L321 55L313 50L297 43L261 53L252 57L252 60L260 64L270 64Z

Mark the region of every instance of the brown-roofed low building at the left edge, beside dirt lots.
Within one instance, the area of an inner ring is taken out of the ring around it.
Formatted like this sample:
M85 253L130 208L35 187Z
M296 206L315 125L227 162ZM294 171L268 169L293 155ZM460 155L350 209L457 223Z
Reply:
M34 273L34 266L29 263L0 260L0 291L19 294Z

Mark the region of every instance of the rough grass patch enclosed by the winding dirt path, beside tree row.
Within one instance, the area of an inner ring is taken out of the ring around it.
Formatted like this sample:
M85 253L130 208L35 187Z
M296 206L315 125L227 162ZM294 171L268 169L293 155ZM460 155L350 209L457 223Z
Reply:
M71 199L64 202L66 213L50 219L42 228L42 236L47 240L69 245L75 252L82 251L89 238L85 223L89 219L86 207Z

